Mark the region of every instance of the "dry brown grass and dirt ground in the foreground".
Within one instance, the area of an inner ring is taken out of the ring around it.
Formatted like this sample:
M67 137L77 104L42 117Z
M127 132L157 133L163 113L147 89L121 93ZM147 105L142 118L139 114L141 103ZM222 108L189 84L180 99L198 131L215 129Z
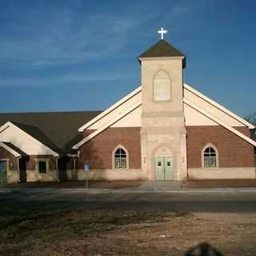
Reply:
M2 202L0 210L1 256L255 255L255 241L256 214L127 212L9 202ZM200 250L205 254L197 254Z

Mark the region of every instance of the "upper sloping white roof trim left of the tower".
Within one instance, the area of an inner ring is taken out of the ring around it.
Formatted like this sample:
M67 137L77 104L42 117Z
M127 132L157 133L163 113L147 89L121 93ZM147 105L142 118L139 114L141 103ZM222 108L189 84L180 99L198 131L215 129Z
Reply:
M119 100L118 102L114 103L114 105L110 106L108 109L106 109L105 111L103 111L101 114L98 114L95 118L93 118L92 120L90 120L89 122L86 122L85 125L81 126L78 131L82 132L83 130L85 130L86 128L90 127L91 125L93 125L95 122L97 122L99 119L103 118L104 116L106 116L106 114L109 114L111 111L113 111L114 109L116 109L118 106L122 105L124 102L128 101L130 98L134 97L136 94L138 94L140 91L142 90L142 86L139 86L137 89L135 89L134 91L132 91L130 94L128 94L126 97L122 98L121 100Z

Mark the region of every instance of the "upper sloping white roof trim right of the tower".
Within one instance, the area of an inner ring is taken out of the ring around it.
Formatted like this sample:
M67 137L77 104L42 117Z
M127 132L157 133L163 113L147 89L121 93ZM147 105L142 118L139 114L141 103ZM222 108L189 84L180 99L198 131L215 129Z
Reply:
M250 129L254 129L255 126L252 125L250 122L247 122L245 119L239 117L237 114L234 114L233 112L231 112L230 110L227 110L224 106L221 106L220 104L218 104L217 102L214 102L212 99L206 97L206 95L200 93L198 90L195 90L194 88L192 88L191 86L187 85L186 83L183 83L183 86L186 90L189 90L192 94L197 95L199 98L202 98L203 100L205 100L206 102L210 103L212 106L217 107L219 110L222 110L224 113L230 115L230 117L238 120L238 122L242 122L242 124L248 126Z

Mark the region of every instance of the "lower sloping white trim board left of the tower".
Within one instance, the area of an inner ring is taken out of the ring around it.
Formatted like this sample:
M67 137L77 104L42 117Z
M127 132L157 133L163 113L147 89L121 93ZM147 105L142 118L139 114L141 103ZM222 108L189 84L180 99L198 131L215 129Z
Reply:
M136 108L138 108L138 106L141 106L141 105L142 105L142 102L139 101L136 104L134 104L134 106L131 106L129 109L125 110L123 113L118 114L118 116L113 118L112 120L110 120L110 122L107 122L104 126L99 128L98 130L95 130L93 133L88 135L86 138L83 138L81 142L78 142L78 144L72 146L72 149L73 150L78 150L78 148L80 146L82 146L86 142L89 142L92 138L94 138L96 135L100 134L103 130L106 130L107 128L112 126L115 122L118 122L120 119L125 117L126 114L129 114L131 111L135 110Z

